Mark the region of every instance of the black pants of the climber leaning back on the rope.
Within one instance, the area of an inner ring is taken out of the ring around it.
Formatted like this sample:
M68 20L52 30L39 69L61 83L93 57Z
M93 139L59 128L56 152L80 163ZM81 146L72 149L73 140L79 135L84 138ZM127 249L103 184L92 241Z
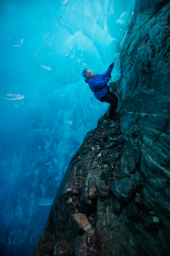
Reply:
M110 104L109 118L111 120L116 114L116 108L117 108L117 105L118 105L118 97L114 93L112 93L111 91L108 91L99 100L101 102L107 102L107 103Z

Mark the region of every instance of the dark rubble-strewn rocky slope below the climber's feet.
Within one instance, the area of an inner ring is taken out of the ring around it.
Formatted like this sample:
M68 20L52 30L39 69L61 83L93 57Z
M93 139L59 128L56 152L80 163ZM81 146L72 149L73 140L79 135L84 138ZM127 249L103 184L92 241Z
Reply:
M143 196L139 170L122 169L120 120L107 118L72 158L32 256L168 255L166 230Z

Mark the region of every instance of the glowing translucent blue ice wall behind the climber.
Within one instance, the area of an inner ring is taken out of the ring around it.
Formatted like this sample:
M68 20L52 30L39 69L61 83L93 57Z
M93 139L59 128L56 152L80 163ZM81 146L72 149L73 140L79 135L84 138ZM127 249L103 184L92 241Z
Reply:
M106 71L133 5L1 0L1 255L27 256L35 247L72 155L108 107L82 69ZM112 80L119 75L117 58Z

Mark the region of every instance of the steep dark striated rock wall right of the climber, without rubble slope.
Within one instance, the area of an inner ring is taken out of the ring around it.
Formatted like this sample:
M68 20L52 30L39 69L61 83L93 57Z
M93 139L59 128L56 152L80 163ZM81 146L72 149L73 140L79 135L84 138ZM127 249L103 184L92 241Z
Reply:
M140 1L136 1L137 10ZM122 46L121 131L126 173L139 170L143 195L170 221L170 3L142 1Z

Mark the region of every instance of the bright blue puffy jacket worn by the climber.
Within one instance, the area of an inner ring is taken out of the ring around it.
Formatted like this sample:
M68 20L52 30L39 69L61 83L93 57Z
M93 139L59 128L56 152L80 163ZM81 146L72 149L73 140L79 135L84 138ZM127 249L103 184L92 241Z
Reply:
M86 78L85 82L88 83L91 91L94 93L95 89L102 88L100 91L94 93L96 99L100 99L107 93L107 83L110 78L107 76L110 73L111 68L109 67L104 74L95 74L94 77Z

